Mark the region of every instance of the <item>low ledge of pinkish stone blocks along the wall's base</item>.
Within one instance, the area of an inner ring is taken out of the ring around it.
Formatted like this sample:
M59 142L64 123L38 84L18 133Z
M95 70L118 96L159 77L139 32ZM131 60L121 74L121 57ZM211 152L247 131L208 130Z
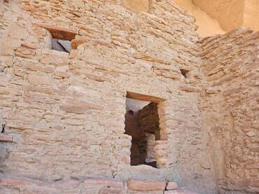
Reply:
M78 189L80 188L80 189ZM0 190L3 193L22 190L25 193L97 193L97 194L131 194L131 193L161 193L161 194L195 194L183 188L178 188L173 181L159 181L151 179L96 179L80 177L60 181L38 181L10 174L0 175Z

